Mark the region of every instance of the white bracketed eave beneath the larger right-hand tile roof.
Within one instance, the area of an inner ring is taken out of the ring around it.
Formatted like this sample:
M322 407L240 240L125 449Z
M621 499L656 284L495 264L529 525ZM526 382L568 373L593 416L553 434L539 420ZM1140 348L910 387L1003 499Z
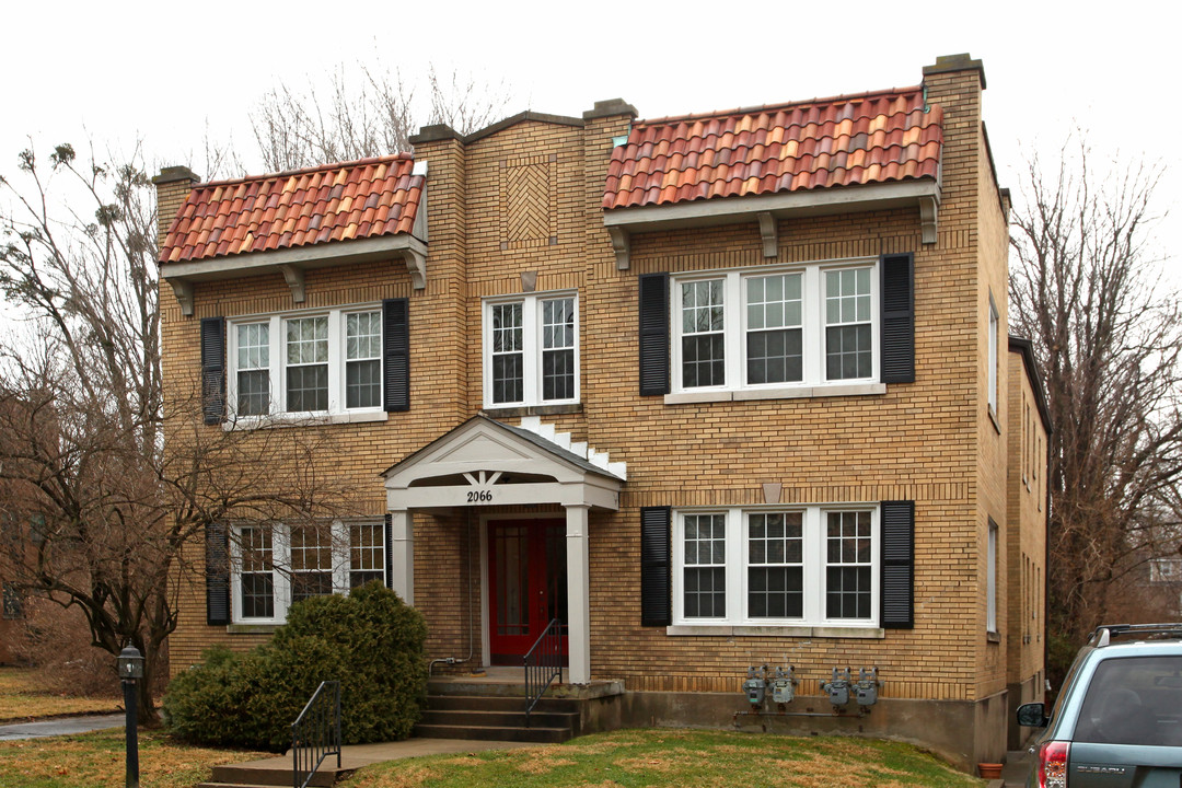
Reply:
M603 223L611 235L616 267L623 271L630 266L631 233L759 222L767 255L779 242L774 223L769 221L772 217L817 216L903 206L920 207L922 240L924 243L935 243L940 206L940 183L935 178L830 187L753 197L697 200L673 206L612 208L604 211Z

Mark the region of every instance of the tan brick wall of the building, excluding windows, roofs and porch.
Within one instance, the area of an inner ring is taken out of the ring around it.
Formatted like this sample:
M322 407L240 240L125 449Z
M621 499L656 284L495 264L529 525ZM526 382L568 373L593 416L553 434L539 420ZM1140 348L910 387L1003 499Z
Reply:
M416 156L429 162L427 291L411 292L401 262L307 276L307 306L411 299L410 412L337 428L344 450L325 463L371 484L370 504L382 512L377 474L483 404L481 299L521 293L521 274L535 272L538 292L571 289L579 298L582 405L544 421L628 462L621 510L590 519L593 676L623 678L631 689L735 691L748 664L791 662L807 693L831 667L845 665L879 666L886 697L978 699L998 691L1006 666L1004 645L986 642L985 523L992 515L1006 527L1006 445L983 410L983 305L992 288L1004 352L1004 239L996 256L1005 224L983 215L982 194L992 191L995 202L995 184L979 184L975 72L929 79L931 100L946 103L948 119L940 232L931 246L921 242L917 209L901 208L781 221L774 260L764 259L754 223L642 233L632 237L631 268L621 272L599 198L610 138L626 131L626 118L583 128L531 121L468 144L421 144ZM507 194L522 182L537 203ZM818 399L667 405L662 397L638 396L639 274L896 252L915 253L916 383L890 385L881 396ZM196 367L200 317L292 306L278 274L199 286L194 318L181 318L167 301L170 380ZM1008 390L1006 376L1000 379L998 418L1005 424ZM786 503L914 500L915 629L881 639L801 639L671 637L641 627L639 507L762 503L764 482L782 483ZM485 600L474 549L480 515L489 513L505 510L415 517L415 595L428 617L433 656L462 657L473 644L479 653ZM174 638L176 670L202 644L254 642L206 627L203 599L186 599ZM1005 614L999 603L1001 626Z

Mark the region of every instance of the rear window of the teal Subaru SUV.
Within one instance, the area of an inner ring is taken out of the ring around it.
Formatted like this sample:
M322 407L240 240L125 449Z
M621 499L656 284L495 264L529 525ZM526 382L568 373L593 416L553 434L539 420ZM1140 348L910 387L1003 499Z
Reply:
M1182 747L1182 656L1121 657L1097 665L1074 740Z

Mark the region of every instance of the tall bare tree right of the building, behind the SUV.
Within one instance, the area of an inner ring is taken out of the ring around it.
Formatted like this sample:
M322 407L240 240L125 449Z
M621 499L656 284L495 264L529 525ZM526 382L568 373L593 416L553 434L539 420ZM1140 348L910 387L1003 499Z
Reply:
M1182 475L1182 312L1149 248L1162 170L1098 170L1086 141L1024 174L1011 320L1047 385L1053 634L1078 642L1134 611L1113 592L1175 548ZM1065 666L1058 666L1060 670Z

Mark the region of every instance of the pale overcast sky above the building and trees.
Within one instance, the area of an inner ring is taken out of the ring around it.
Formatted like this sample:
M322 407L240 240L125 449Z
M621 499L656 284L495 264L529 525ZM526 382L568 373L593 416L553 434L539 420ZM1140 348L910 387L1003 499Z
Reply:
M954 11L963 8L963 11ZM1067 11L1070 8L1070 11ZM247 112L278 79L340 63L429 63L504 83L525 109L578 116L622 97L641 117L917 84L939 54L985 63L985 121L1002 185L1022 150L1053 155L1079 126L1093 154L1169 168L1163 249L1182 243L1177 6L1143 0L885 2L8 4L0 174L32 136L43 155L86 136L143 138L155 164L201 172L202 138L254 159ZM255 159L256 161L256 159Z

